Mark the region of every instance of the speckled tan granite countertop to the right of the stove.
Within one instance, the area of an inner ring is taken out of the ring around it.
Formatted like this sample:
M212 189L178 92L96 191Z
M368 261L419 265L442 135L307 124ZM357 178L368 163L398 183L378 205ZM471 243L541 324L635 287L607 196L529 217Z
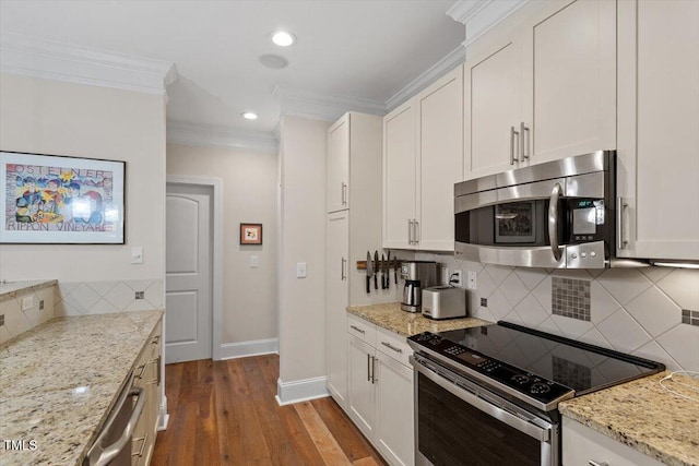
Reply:
M650 375L558 405L564 416L664 464L699 465L699 380ZM686 397L683 397L683 396ZM565 433L564 433L565 434Z

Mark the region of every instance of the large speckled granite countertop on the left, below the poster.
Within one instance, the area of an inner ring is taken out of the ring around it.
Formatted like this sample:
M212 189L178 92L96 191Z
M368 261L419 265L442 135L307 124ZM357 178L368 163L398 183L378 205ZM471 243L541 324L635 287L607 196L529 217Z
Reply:
M0 439L24 441L0 464L82 464L162 316L58 318L0 345Z

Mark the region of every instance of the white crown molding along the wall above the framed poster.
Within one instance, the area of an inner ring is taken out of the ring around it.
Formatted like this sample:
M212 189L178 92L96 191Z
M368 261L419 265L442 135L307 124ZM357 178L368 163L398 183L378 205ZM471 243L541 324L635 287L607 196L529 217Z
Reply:
M2 33L0 72L165 95L175 64L72 44Z

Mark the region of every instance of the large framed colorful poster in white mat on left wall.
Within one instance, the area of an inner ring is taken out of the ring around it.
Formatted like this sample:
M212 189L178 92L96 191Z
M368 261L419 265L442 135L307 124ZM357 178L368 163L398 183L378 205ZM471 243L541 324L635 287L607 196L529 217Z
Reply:
M123 244L126 162L0 152L0 242Z

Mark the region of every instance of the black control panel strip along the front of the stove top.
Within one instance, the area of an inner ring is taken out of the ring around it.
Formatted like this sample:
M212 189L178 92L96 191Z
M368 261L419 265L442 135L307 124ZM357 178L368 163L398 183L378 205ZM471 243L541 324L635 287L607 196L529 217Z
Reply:
M430 332L413 335L408 339L415 342L418 346L447 357L459 366L465 366L486 375L488 379L540 402L549 403L571 392L571 389L566 385L523 371L507 362L489 358Z

